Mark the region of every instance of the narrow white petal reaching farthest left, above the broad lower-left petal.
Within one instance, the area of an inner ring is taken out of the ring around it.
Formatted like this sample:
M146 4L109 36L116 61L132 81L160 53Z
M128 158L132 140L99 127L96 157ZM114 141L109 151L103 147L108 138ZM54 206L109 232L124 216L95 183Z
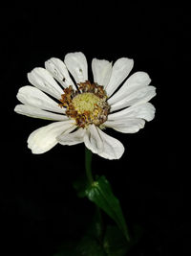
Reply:
M16 105L14 111L21 115L53 121L62 121L69 119L66 115L54 114L52 112L42 110L32 105Z

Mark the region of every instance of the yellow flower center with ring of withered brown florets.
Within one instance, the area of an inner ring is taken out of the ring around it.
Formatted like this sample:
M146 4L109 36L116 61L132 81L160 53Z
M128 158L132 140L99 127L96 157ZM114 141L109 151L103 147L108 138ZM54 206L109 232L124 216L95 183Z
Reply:
M79 128L91 124L100 127L110 110L103 86L90 81L80 82L77 86L76 91L72 86L64 89L60 106L66 106L66 115L74 119Z

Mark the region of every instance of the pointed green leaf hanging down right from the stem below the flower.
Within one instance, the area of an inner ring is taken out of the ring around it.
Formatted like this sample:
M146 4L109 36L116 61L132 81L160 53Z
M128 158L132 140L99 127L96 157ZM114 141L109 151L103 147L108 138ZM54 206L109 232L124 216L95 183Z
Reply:
M130 241L129 232L122 214L120 203L114 196L112 188L105 176L100 176L91 186L89 186L86 190L86 196L116 221L118 228L123 232L127 241Z

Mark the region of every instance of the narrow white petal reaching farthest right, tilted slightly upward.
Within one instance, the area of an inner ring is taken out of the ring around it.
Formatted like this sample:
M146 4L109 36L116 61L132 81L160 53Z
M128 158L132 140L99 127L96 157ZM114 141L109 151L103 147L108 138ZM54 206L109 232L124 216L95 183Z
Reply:
M150 101L154 96L156 96L156 87L144 86L143 88L138 88L137 91L130 93L130 95L128 95L126 98L118 101L114 105L111 105L110 111L113 112L129 105L146 103Z

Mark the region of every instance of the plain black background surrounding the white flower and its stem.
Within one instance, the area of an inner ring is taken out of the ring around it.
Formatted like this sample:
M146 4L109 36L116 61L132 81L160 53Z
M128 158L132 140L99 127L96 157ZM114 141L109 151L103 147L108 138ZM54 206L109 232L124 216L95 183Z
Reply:
M53 255L62 241L78 239L91 220L92 204L76 198L72 186L84 172L84 145L33 155L29 134L50 122L13 112L32 68L75 51L89 65L92 58L134 58L133 72L147 72L157 87L156 118L136 134L108 129L125 152L116 161L94 155L93 170L110 180L129 226L144 230L129 255L189 255L189 168L180 160L180 140L189 130L182 114L189 91L190 16L183 4L142 2L2 8L1 255Z

